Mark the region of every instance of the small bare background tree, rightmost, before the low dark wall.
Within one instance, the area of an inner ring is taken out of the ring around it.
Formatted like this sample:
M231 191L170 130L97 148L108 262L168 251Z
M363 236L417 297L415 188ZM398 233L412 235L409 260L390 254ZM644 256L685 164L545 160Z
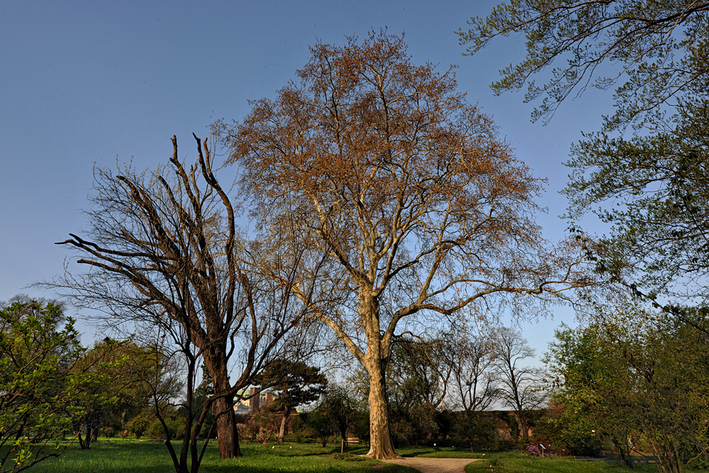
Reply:
M493 333L493 354L501 399L514 409L522 437L529 436L529 413L547 401L546 370L542 367L520 366L535 356L522 333L501 327Z

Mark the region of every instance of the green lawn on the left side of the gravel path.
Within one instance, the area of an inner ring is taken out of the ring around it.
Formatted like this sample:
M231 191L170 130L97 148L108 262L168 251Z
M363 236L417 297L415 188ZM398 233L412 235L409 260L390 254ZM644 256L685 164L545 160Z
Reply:
M204 455L200 473L371 473L372 467L382 465L376 460L336 460L333 455L339 447L283 443L255 445L242 443L244 457L221 460L216 442ZM362 454L367 447L350 449ZM152 440L101 439L91 444L91 450L80 450L72 445L61 457L50 458L27 470L31 473L169 473L174 472L167 447ZM386 473L416 473L416 470L394 464L386 465Z

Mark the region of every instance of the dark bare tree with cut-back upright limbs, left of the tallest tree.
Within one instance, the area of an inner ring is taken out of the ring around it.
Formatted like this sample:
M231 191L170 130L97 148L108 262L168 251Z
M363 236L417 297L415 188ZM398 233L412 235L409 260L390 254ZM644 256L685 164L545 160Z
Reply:
M73 246L78 263L90 270L67 272L53 285L80 306L102 311L99 318L111 328L147 323L162 330L188 367L203 358L215 389L210 404L220 457L235 457L241 453L233 397L284 355L286 336L304 326L307 308L291 294L292 274L281 272L298 268L301 254L295 245L253 251L239 237L213 157L206 142L194 138L198 159L189 168L178 160L173 137L170 165L147 177L130 167L123 174L97 170L89 235L70 234L60 243ZM245 262L250 257L257 264ZM279 279L252 271L256 266L269 267ZM308 294L298 275L300 294Z

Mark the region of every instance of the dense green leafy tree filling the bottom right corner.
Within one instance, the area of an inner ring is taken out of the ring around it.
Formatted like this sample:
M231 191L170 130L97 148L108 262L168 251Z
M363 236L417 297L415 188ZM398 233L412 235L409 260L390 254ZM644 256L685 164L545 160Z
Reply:
M596 426L621 464L632 466L638 443L670 473L707 458L706 345L691 325L625 306L586 328L562 328L547 357L562 382L557 399Z

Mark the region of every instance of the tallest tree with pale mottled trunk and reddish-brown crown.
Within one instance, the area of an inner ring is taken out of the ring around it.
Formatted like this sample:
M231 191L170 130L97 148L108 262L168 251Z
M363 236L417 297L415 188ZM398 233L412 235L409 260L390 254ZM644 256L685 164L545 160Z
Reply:
M451 70L413 65L386 33L311 52L300 84L221 133L262 240L291 226L328 256L316 295L343 291L337 310L294 289L367 369L367 455L398 457L385 381L397 328L487 313L503 294L585 286L584 256L573 243L546 249L533 221L542 182L455 91Z

